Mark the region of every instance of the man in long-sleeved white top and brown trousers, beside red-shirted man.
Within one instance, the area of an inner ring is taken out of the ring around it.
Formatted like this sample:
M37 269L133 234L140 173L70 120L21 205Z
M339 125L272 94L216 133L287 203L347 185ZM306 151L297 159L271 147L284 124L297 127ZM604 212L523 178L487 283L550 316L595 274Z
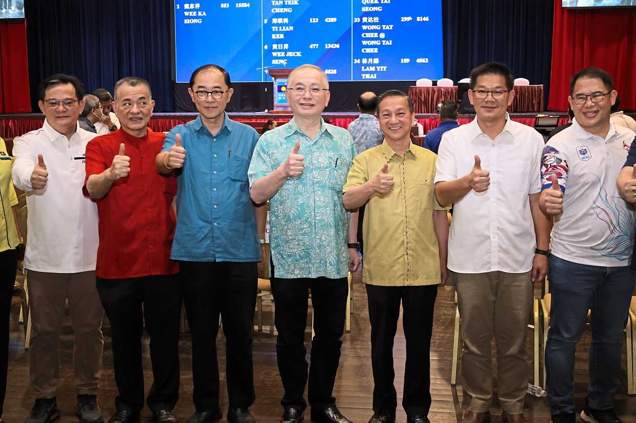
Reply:
M67 299L74 336L76 413L85 423L103 421L97 405L104 347L104 309L95 286L97 207L81 192L86 144L97 135L79 128L83 91L74 76L44 79L38 105L45 122L39 130L16 138L13 145L13 182L29 192L24 267L29 271L29 356L36 402L25 423L48 423L60 417L59 337Z

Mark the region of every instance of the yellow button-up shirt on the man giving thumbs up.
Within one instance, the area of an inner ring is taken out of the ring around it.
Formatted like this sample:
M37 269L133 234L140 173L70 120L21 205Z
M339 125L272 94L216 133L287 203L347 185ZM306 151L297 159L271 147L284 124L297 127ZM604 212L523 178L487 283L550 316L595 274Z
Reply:
M385 163L395 185L375 193L364 208L363 281L370 285L417 286L439 283L439 248L433 210L447 210L435 198L437 155L411 143L404 156L386 140L354 158L342 191L374 178Z

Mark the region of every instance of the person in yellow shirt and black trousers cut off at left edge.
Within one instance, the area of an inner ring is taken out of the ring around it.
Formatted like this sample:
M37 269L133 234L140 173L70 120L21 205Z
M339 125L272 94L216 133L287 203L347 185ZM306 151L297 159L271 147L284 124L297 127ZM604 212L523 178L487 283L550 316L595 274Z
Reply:
M15 208L18 198L11 181L11 156L0 138L0 422L6 393L6 372L9 363L9 315L17 268L16 247L20 243Z

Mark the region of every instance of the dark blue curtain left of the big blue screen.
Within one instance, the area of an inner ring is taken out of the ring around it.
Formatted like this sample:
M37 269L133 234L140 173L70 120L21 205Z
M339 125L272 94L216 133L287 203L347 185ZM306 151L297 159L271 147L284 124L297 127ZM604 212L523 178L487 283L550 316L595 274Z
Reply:
M155 111L172 111L170 0L25 0L31 102L38 83L62 72L86 93L113 93L121 77L148 80Z

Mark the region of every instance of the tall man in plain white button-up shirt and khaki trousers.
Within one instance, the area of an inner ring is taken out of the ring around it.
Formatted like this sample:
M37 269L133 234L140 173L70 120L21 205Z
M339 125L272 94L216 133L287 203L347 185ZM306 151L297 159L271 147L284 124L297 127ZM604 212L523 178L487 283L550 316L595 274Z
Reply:
M518 423L528 386L530 281L543 279L548 265L550 220L539 209L543 138L506 112L515 97L508 66L473 69L468 96L476 119L443 135L435 176L439 204L454 204L448 270L464 338L462 422L490 421L494 336L502 422Z

